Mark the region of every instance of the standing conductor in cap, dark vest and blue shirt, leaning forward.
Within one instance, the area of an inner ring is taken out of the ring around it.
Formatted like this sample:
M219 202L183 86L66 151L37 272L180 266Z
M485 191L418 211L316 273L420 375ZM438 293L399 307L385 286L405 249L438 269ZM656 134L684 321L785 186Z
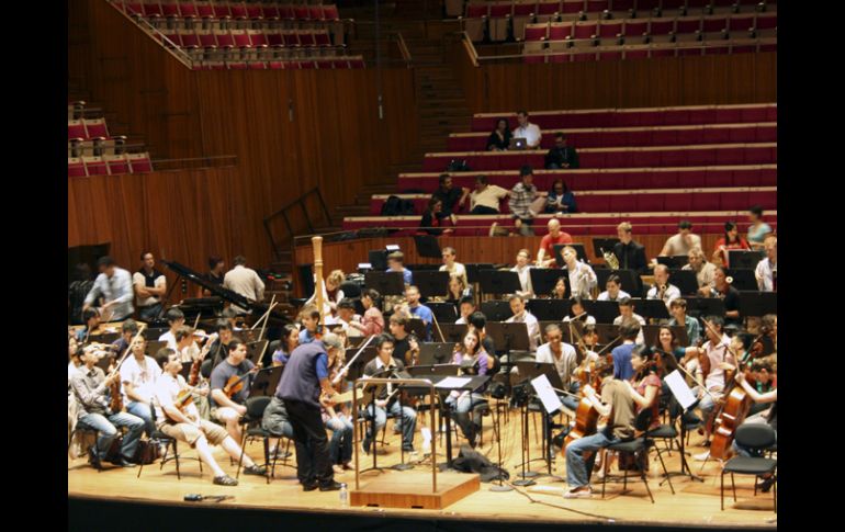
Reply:
M335 395L328 367L343 351L335 333L298 346L284 366L275 396L284 401L296 445L296 476L305 491L340 489L329 457L326 427L320 416L320 394Z

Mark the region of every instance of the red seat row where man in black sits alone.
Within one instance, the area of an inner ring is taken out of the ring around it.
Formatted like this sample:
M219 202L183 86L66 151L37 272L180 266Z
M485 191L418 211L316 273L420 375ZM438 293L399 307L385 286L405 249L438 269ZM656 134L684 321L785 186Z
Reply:
M426 154L422 169L446 170L452 160L465 160L473 170L512 170L530 165L543 168L544 150ZM578 150L582 168L702 167L720 165L773 165L777 145L724 144L660 146L649 148L592 148Z

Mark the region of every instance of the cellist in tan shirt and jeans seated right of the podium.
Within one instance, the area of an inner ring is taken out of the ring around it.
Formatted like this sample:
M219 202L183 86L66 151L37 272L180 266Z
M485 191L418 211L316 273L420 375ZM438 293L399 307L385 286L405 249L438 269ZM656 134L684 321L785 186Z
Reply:
M609 371L609 366L605 366L605 371ZM570 490L564 494L566 498L592 497L589 478L597 451L634 435L634 403L624 382L605 376L601 382L601 399L589 385L584 387L584 396L608 420L601 431L566 445L566 483L570 485Z

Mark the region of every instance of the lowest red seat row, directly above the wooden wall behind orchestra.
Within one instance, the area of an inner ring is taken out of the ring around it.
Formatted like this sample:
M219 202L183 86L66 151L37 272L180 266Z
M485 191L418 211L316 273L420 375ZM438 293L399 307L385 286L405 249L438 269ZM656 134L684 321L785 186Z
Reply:
M705 212L679 211L672 213L631 213L615 212L606 214L567 214L559 216L561 228L571 235L615 235L620 222L630 222L638 235L666 235L678 230L678 219L688 219L699 234L724 231L725 222L744 219L747 206L735 211ZM536 227L543 227L551 219L541 215L534 219ZM489 227L495 222L500 227L511 231L514 218L509 214L457 216L455 236L487 236ZM773 230L777 229L777 212L766 213L766 223ZM347 216L343 218L345 230L372 229L374 227L395 228L395 236L413 235L419 227L419 216ZM399 229L406 228L406 229Z

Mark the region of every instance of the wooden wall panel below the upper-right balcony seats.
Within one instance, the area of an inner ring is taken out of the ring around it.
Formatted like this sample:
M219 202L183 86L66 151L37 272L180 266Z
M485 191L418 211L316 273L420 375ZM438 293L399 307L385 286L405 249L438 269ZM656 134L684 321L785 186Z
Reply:
M462 43L451 46L475 113L777 101L777 53L475 67Z

